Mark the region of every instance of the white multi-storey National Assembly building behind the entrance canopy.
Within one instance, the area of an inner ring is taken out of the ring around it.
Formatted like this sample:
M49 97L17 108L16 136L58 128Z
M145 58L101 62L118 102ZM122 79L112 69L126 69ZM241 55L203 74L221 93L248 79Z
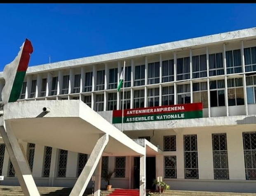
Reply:
M125 109L203 106L202 118L123 124L124 134L160 149L146 158L147 189L162 176L176 190L256 192L256 28L29 67L18 101L80 99L112 123L124 61ZM89 157L25 141L23 148L37 186L73 187ZM113 188L139 188L139 157L106 153L101 168L116 169ZM0 175L1 185L19 185L3 141Z

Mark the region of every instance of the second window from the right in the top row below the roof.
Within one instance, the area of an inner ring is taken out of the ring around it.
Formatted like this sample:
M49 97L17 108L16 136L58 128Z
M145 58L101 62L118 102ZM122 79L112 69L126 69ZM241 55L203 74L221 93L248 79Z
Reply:
M240 49L233 50L233 51L226 51L226 63L227 63L227 74L241 73L242 61L241 61Z

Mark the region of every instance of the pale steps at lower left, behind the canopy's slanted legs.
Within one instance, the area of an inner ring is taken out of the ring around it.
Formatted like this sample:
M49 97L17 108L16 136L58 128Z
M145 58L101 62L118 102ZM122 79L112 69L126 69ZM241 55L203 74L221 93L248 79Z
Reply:
M40 196L69 196L72 188L37 187ZM92 189L86 189L83 196L92 194ZM24 196L20 186L0 186L0 196Z

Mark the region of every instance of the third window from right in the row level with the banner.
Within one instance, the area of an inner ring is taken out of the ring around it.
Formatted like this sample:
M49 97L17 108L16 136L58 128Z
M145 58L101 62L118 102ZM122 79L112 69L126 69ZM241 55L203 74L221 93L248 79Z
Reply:
M224 80L210 81L210 105L211 107L225 106Z

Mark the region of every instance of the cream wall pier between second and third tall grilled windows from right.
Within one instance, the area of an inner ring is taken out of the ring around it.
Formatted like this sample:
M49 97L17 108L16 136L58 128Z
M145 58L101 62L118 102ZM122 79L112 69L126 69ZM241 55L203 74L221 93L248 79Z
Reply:
M200 134L197 134L197 153L199 179L214 179L210 131L202 131Z

